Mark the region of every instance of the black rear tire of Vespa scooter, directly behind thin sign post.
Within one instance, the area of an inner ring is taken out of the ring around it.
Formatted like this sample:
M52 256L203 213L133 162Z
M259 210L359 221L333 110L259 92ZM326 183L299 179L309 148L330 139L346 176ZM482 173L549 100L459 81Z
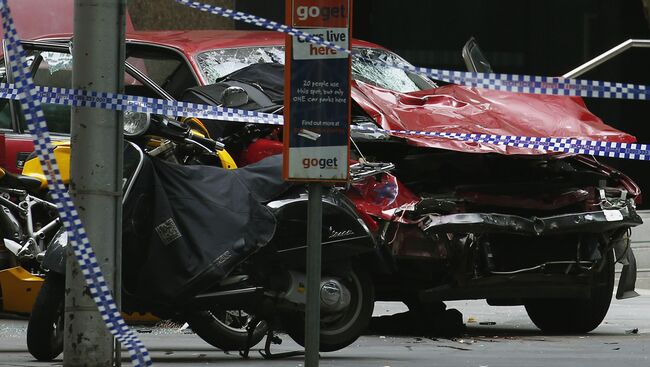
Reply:
M374 286L367 272L355 269L340 278L350 290L350 306L333 321L321 320L321 352L333 352L352 344L366 330L375 304ZM322 316L322 315L321 315ZM289 336L305 346L305 318L295 314L285 315L283 326Z

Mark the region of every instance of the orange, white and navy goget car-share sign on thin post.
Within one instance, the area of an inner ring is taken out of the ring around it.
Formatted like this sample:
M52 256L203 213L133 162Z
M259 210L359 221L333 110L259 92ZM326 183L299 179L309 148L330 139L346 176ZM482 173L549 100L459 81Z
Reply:
M287 20L350 48L351 0L287 0ZM348 179L350 56L287 36L284 179Z

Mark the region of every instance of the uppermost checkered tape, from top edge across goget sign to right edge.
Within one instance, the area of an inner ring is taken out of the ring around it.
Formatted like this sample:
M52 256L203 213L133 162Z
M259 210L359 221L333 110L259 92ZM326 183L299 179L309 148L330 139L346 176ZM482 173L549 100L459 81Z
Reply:
M220 15L226 18L243 21L269 30L299 37L308 42L326 46L338 52L351 54L359 60L398 68L404 71L424 74L435 80L447 83L461 84L469 87L493 89L505 92L547 94L560 96L579 96L592 98L650 100L650 87L639 84L612 83L607 81L567 79L562 77L531 76L517 74L474 73L430 69L410 65L406 62L391 63L386 60L369 59L354 50L342 48L321 37L314 36L300 29L292 28L278 22L257 17L240 11L225 9L219 6L203 4L190 0L175 0L183 5L200 11Z

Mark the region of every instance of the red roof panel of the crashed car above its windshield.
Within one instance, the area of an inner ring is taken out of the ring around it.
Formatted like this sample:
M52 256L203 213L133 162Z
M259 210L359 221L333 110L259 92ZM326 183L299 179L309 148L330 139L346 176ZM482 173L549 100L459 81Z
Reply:
M69 39L72 34L53 34L46 39ZM137 31L126 34L129 42L148 43L177 49L187 56L220 48L281 46L285 35L274 31L240 30L190 30L190 31ZM352 40L354 47L383 48L371 42Z

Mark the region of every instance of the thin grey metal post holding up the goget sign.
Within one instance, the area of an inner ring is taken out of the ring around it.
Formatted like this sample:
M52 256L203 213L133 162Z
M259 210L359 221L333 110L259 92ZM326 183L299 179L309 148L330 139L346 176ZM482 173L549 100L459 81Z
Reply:
M309 185L307 203L307 307L305 309L305 367L318 367L320 347L321 239L323 184Z

